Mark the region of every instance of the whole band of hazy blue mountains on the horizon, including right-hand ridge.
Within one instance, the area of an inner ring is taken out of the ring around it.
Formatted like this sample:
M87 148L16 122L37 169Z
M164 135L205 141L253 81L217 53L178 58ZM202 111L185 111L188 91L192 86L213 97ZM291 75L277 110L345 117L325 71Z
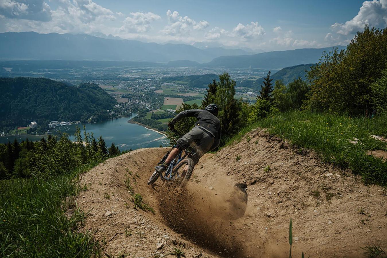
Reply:
M113 38L113 37L112 37ZM144 43L87 34L0 33L0 60L104 60L157 63L175 67L224 67L281 69L317 63L333 48L302 48L259 54L221 47L197 48L187 44ZM135 64L135 63L134 63ZM155 64L156 66L156 64Z

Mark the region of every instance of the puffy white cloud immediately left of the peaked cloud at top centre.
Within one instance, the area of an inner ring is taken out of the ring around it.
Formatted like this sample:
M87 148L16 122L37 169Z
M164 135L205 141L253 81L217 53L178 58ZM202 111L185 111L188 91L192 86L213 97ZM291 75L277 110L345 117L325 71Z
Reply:
M131 12L123 21L123 26L120 27L120 32L147 32L151 29L151 22L161 19L161 17L152 12Z

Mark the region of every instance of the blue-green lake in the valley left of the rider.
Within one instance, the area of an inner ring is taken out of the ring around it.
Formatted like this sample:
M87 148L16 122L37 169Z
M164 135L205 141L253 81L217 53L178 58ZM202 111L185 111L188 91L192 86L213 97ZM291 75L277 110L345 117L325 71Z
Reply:
M132 117L129 118L118 118L115 120L108 120L98 123L85 124L86 132L93 133L94 138L102 136L106 142L107 147L110 147L111 143L115 143L120 150L139 149L148 147L159 147L163 144L161 140L167 140L167 138L161 133L149 130L144 126L128 123ZM83 138L83 125L65 125L58 126L55 129L51 129L53 135L60 135L60 133L67 133L70 135L70 139L74 140L74 133L76 127L80 127L82 130ZM16 136L2 136L0 137L0 143L7 143L8 140L13 142L15 138L19 141L25 140L40 140L40 137L33 135L16 135Z

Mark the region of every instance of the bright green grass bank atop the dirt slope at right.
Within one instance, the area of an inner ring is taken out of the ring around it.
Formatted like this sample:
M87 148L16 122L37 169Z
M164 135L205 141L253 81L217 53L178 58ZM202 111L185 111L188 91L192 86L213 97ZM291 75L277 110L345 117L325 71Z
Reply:
M368 150L387 151L387 143L370 135L387 136L387 115L351 118L335 114L293 111L262 119L243 128L226 144L240 141L245 133L260 127L286 138L298 148L315 150L325 161L349 168L361 175L365 184L387 186L387 162L367 155ZM349 140L358 138L358 144Z

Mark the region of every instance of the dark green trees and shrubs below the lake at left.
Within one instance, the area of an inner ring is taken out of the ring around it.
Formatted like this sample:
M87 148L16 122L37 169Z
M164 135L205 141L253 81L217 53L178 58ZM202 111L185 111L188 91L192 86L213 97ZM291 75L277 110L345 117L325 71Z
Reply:
M0 179L57 176L121 154L114 143L108 148L102 137L96 139L86 130L83 135L77 128L75 142L63 134L58 138L49 135L38 142L27 139L19 143L15 139L0 144Z

